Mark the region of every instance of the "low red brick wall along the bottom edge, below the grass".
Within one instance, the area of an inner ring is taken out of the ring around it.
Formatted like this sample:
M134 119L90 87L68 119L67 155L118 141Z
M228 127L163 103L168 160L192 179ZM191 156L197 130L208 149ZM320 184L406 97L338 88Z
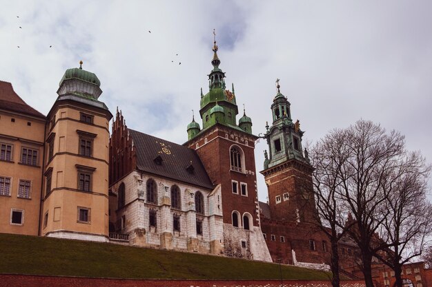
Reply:
M282 281L285 287L331 287L330 281ZM279 280L133 280L85 277L0 275L0 287L86 286L86 287L279 287ZM341 281L341 287L364 287L364 281Z

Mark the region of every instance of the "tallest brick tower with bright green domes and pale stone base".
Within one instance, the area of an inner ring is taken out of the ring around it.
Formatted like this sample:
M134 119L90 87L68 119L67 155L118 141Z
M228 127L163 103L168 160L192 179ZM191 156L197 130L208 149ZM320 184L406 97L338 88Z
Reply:
M225 254L270 260L259 228L254 154L257 136L252 134L252 120L245 111L237 124L234 85L231 91L226 89L216 40L213 52L210 90L205 95L201 92L203 128L193 119L184 145L197 151L213 184L221 184Z

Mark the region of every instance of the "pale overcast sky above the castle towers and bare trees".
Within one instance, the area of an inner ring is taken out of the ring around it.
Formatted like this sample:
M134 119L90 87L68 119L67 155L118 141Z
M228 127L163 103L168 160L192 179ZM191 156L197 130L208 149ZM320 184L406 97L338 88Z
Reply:
M304 143L363 118L432 162L431 12L431 1L2 0L0 80L47 114L82 60L112 114L119 107L131 129L182 144L199 89L208 92L215 29L219 67L254 134L271 122L280 78ZM257 171L264 149L261 140Z

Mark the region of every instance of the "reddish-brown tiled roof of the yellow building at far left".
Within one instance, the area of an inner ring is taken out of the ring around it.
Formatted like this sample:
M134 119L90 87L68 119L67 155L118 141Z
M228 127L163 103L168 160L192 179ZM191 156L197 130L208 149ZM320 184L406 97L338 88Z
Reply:
M3 81L0 81L0 109L37 116L38 118L45 118L43 114L27 105L26 102L15 93L11 83Z

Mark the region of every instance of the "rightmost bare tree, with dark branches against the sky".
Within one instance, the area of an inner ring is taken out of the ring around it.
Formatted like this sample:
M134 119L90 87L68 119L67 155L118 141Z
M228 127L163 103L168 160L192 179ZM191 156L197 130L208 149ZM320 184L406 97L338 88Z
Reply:
M432 206L426 199L431 166L419 152L407 153L394 165L382 180L387 198L380 212L386 216L371 252L395 271L395 284L402 287L402 265L422 254L432 233Z

